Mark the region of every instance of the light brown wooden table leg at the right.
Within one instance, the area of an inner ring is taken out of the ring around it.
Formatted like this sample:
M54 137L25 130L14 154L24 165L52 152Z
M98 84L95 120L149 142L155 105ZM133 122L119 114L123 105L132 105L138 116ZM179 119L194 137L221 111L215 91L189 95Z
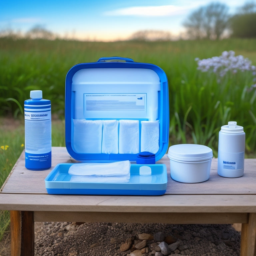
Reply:
M241 256L256 256L256 213L249 213L248 223L242 223Z

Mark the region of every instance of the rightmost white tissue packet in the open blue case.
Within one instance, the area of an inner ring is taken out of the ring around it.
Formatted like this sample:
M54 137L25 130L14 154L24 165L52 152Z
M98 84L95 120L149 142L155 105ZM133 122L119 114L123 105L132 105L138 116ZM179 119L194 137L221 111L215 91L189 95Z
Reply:
M141 121L141 152L159 150L159 121Z

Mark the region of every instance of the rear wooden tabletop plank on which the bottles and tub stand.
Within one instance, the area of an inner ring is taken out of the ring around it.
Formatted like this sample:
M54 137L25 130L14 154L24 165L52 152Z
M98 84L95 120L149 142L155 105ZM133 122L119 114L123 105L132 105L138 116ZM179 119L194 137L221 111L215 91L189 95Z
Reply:
M47 194L44 179L58 163L78 162L70 157L65 147L52 147L52 167L45 171L31 171L25 168L24 152L18 159L2 193ZM180 183L170 177L170 162L165 155L157 163L166 164L166 194L256 194L256 159L245 160L245 174L240 178L224 178L217 174L217 159L212 159L210 179L201 183Z

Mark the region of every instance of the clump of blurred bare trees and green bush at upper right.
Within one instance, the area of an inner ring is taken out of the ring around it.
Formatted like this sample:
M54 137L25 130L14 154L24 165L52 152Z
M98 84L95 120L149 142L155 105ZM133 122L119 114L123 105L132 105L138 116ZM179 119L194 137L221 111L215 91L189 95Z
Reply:
M247 2L235 15L226 4L212 2L193 11L184 21L189 39L256 37L256 4Z

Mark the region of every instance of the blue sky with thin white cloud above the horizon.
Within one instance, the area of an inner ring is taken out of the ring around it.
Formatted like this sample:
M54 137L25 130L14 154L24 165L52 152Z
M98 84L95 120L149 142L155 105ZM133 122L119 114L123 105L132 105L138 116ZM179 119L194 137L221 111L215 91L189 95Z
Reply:
M125 40L137 31L179 35L188 15L208 0L0 0L0 32L26 33L35 26L79 40ZM215 1L216 2L216 1ZM230 14L241 0L218 1Z

